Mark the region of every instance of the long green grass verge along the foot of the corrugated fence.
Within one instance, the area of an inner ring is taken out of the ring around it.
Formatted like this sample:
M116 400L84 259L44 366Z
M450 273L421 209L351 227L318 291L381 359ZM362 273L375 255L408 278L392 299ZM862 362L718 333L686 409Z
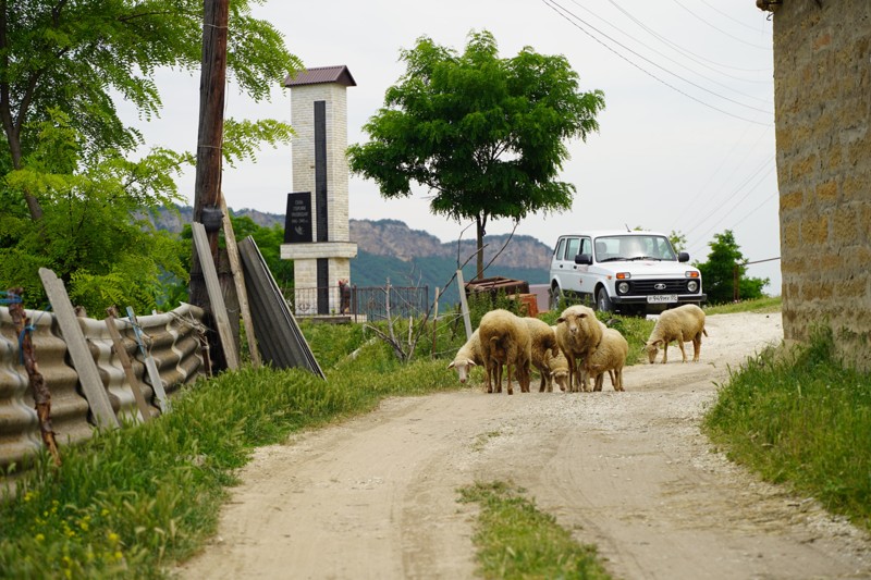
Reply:
M444 360L401 366L382 344L361 350L327 381L296 369L225 372L183 393L172 414L63 447L60 468L40 455L0 502L0 578L165 577L216 531L255 447L384 397L459 386Z

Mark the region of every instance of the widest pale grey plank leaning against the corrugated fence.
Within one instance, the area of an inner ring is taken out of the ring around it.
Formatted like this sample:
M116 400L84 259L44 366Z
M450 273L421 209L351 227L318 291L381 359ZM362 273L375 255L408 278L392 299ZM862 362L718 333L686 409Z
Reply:
M51 309L54 310L63 341L66 343L66 350L70 353L73 367L78 374L82 392L94 415L94 421L101 429L118 429L120 425L109 402L109 394L100 380L97 362L90 355L85 333L82 332L78 318L73 311L73 303L70 301L63 281L48 268L39 269L39 279L42 281L42 287L46 288Z

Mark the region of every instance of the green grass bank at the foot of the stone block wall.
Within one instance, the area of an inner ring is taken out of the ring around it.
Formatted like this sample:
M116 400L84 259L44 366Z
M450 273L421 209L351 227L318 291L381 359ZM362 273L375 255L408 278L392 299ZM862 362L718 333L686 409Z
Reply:
M871 375L843 368L831 333L734 372L704 429L731 459L871 530Z

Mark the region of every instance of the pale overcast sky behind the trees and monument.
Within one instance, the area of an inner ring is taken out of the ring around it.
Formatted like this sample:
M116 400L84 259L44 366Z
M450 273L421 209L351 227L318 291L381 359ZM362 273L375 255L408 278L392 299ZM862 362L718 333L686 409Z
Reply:
M691 259L704 261L713 235L732 230L748 260L780 256L772 23L753 0L272 0L254 14L273 23L306 66L347 65L357 82L348 88L348 143L367 139L361 126L405 71L400 50L420 36L462 51L470 30L487 29L502 58L525 46L563 54L584 90L604 91L605 110L599 133L568 145L562 180L577 187L572 211L527 218L517 234L552 245L587 229L679 231ZM193 150L198 73L162 73L158 83L161 118L140 125L148 145ZM280 86L269 103L231 86L226 116L290 122L290 94ZM291 148L267 149L257 163L225 168L223 192L233 209L283 214L292 178ZM193 183L193 171L180 181L192 205ZM359 177L351 178L349 210L352 219L402 220L442 242L469 225L431 214L426 190L382 200ZM488 233L512 226L493 222ZM769 261L749 274L770 277L765 292L780 294L780 267Z

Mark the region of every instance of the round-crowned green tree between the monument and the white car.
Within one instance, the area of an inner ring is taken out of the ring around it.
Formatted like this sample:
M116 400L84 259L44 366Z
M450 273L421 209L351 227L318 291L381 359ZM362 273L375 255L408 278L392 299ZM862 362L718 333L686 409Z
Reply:
M571 209L575 186L556 180L565 140L598 131L600 90L578 90L564 57L524 48L500 59L488 32L465 51L421 37L401 51L406 72L365 125L370 141L348 148L351 170L375 180L385 198L430 192L433 213L475 220L478 276L490 219L515 222L538 211Z

